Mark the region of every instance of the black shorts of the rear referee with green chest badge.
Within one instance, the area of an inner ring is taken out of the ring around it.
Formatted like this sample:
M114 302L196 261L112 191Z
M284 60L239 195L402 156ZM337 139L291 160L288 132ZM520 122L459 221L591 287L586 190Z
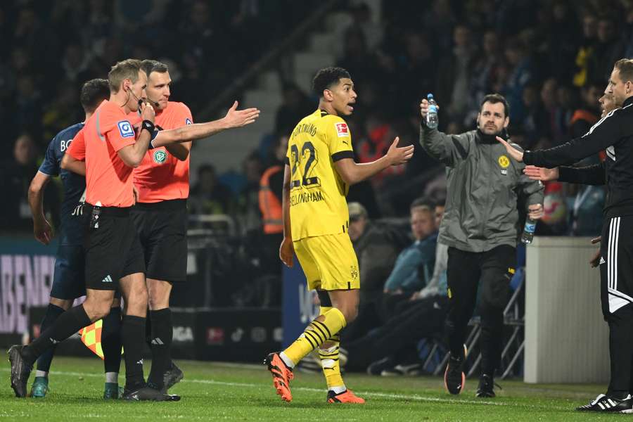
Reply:
M186 199L136 203L132 218L145 252L147 278L171 283L186 281Z

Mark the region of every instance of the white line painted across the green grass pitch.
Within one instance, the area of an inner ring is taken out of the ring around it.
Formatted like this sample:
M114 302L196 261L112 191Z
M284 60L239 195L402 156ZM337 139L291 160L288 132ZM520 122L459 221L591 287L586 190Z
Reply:
M11 371L11 369L0 368L0 371ZM61 376L82 376L87 378L103 378L103 374L101 373L82 373L82 372L66 372L66 371L51 371L53 375L61 375ZM252 384L252 383L229 383L226 381L215 381L215 380L190 380L184 379L181 383L197 383L197 384L210 384L210 385L225 385L227 387L247 387L247 388L262 388L263 384ZM309 392L324 392L323 388L311 388L311 387L293 387L293 390L300 391L309 391ZM490 401L480 401L480 400L459 400L459 399L442 399L441 397L426 397L421 395L407 395L407 394L395 394L388 392L372 392L372 391L358 391L359 395L364 395L367 397L383 397L385 399L401 399L401 400L413 400L418 402L437 402L437 403L452 403L452 404L486 404L491 406L506 406L506 407L531 407L531 408L539 408L539 406L535 404L518 404L518 403L508 403L508 402L490 402ZM556 409L556 410L571 410L571 407L548 407L548 409Z

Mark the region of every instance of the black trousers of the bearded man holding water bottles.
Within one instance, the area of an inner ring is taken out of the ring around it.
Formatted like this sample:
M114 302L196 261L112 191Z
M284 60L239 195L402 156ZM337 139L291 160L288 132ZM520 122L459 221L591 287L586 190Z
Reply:
M481 281L481 373L494 375L499 366L504 334L504 308L510 298L510 279L516 265L516 248L500 245L486 252L448 250L447 343L452 354L460 356L466 340L468 321L477 305Z

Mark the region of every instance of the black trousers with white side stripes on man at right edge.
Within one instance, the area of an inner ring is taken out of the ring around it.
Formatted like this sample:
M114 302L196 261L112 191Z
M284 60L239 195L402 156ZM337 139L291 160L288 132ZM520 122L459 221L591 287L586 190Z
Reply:
M608 395L633 392L633 215L606 219L600 245L602 313L609 326Z

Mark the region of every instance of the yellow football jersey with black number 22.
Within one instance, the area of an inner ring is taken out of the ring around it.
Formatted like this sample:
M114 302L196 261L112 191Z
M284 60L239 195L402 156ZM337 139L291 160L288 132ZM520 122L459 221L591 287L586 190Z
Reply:
M323 110L304 117L290 135L286 158L293 241L346 232L349 186L334 167L337 160L354 158L345 120Z

